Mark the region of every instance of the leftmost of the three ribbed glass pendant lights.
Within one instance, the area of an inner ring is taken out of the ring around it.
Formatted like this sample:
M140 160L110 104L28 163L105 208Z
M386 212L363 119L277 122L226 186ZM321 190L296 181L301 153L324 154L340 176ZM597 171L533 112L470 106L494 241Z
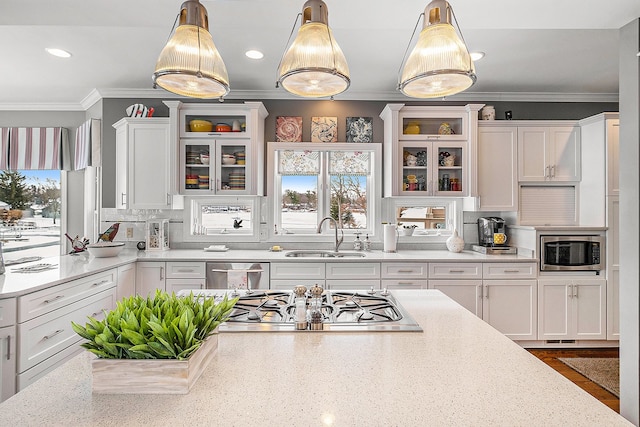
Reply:
M207 10L198 0L187 0L176 22L178 27L174 22L173 34L156 63L154 87L192 98L227 95L227 68L209 33Z

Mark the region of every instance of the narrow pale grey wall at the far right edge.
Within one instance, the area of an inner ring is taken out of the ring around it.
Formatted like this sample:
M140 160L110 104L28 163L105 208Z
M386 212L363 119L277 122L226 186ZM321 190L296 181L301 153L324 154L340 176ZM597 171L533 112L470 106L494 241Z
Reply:
M620 32L620 413L640 425L640 19Z

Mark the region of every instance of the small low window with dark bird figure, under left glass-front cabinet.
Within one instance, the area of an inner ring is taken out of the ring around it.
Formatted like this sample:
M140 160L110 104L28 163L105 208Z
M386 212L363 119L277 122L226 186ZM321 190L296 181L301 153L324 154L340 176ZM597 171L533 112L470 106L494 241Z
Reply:
M187 197L185 214L185 241L258 240L257 197Z

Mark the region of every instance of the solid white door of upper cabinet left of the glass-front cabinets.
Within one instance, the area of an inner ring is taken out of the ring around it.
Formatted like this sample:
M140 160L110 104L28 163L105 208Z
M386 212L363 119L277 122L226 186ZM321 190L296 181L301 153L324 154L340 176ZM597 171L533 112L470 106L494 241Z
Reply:
M170 148L168 121L129 128L128 209L171 207Z

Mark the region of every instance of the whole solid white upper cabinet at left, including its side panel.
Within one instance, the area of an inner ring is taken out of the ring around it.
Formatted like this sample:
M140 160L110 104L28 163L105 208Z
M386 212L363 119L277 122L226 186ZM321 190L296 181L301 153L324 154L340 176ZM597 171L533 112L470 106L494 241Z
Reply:
M124 118L116 129L116 208L171 208L168 118Z

